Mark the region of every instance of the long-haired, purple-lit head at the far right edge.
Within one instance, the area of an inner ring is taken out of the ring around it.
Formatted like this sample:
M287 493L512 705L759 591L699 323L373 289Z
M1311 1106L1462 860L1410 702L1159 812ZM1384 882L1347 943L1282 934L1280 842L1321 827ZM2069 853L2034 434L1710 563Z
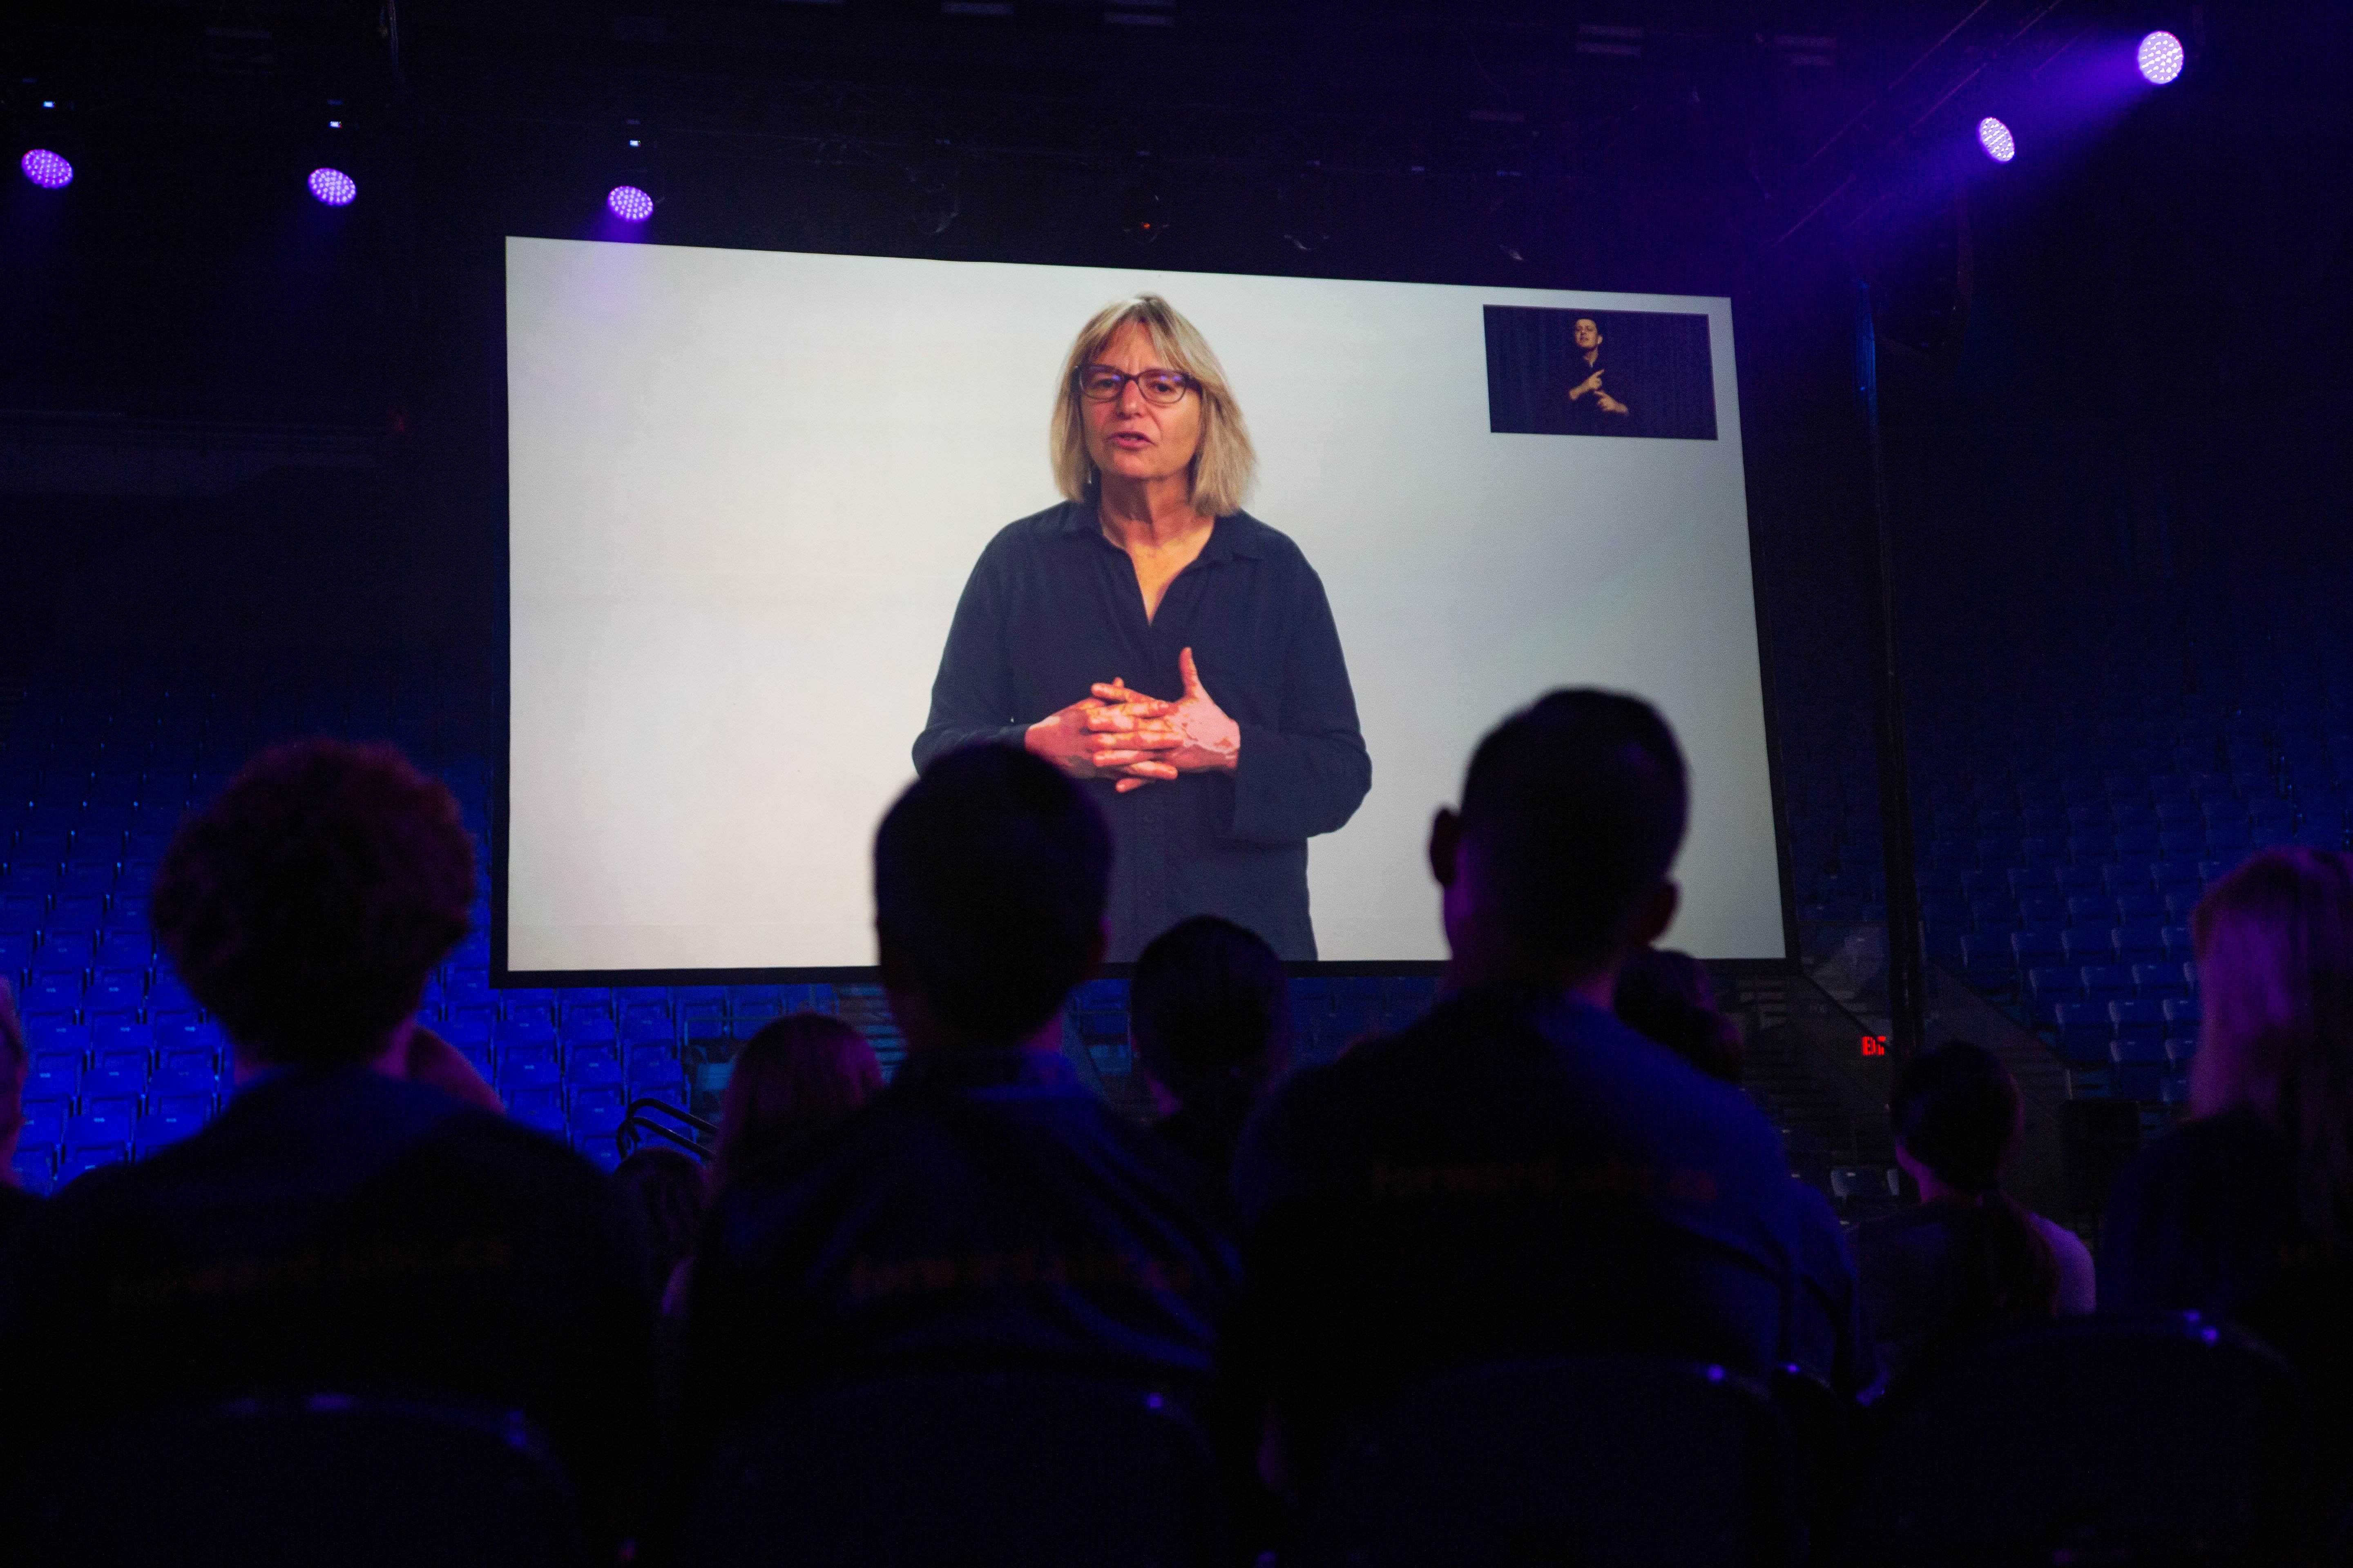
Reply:
M2266 849L2191 912L2205 1023L2191 1105L2252 1105L2297 1150L2304 1220L2353 1255L2353 856Z

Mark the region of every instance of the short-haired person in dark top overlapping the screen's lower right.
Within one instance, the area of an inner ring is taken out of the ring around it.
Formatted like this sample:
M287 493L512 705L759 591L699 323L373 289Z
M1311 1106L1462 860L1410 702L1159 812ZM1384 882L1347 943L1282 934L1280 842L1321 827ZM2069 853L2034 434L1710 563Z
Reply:
M1685 769L1635 698L1555 691L1431 827L1447 997L1275 1091L1242 1135L1238 1366L1268 1481L1351 1413L1485 1361L1633 1352L1871 1382L1828 1204L1732 1086L1609 1013L1675 912Z

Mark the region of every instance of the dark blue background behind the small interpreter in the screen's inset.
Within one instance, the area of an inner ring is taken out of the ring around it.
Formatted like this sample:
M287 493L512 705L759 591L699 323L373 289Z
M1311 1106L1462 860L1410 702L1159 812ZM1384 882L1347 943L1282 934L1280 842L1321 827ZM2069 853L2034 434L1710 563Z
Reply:
M1591 374L1569 339L1584 315L1593 315L1602 329L1600 364L1607 371L1602 390L1628 409L1595 430L1579 425L1569 409L1569 388ZM1649 435L1713 442L1715 374L1708 364L1708 317L1487 306L1487 428L1499 435Z

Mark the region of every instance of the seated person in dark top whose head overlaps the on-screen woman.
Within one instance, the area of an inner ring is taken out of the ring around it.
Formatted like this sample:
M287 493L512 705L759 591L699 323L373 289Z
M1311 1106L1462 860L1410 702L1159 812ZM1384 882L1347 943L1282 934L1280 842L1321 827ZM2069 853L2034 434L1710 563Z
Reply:
M1221 1197L1061 1058L1111 837L1009 745L939 757L875 835L906 1063L729 1180L687 1291L685 1469L762 1406L920 1371L1064 1371L1195 1403L1235 1288Z

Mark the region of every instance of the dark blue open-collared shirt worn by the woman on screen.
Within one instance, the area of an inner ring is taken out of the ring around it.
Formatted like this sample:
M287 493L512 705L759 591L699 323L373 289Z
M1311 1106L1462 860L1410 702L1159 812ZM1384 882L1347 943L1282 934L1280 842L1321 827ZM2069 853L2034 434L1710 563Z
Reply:
M915 766L974 741L1019 745L1038 719L1125 677L1184 696L1176 654L1242 726L1233 773L1186 773L1120 795L1082 788L1111 820L1111 952L1141 947L1193 914L1224 914L1285 959L1315 957L1308 837L1355 816L1372 759L1322 581L1285 534L1249 512L1219 517L1200 557L1146 621L1134 562L1092 505L1007 524L955 604Z

